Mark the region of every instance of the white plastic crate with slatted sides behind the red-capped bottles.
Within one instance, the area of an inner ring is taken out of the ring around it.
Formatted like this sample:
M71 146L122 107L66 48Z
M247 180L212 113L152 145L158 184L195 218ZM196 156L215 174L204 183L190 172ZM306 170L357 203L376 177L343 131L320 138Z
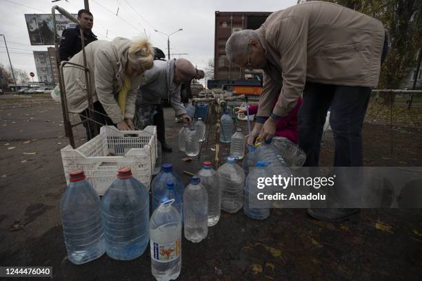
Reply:
M157 127L143 131L119 132L103 126L100 134L77 149L70 145L61 149L61 160L69 184L69 173L83 169L86 178L99 195L103 195L116 179L121 167L130 167L132 175L150 187L157 159Z

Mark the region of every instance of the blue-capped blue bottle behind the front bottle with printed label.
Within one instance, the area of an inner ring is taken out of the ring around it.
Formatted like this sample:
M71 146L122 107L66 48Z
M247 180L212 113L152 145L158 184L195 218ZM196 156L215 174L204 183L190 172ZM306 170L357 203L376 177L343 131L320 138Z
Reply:
M157 209L160 205L160 200L165 198L165 193L167 190L166 183L172 182L174 183L174 191L179 196L180 202L183 202L183 191L185 189L185 185L177 176L176 173L173 171L173 165L170 163L164 163L161 166L161 171L151 182L151 189L152 189L152 211Z

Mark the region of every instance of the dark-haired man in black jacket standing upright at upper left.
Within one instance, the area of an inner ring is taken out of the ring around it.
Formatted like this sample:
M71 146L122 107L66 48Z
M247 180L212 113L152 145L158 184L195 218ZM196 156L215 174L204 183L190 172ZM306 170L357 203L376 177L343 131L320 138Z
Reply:
M85 9L79 10L78 21L83 30L85 45L98 40L97 36L95 36L95 34L91 31L94 23L94 17L92 17L90 11ZM63 31L63 34L61 34L59 50L61 61L70 60L72 56L82 50L81 31L79 30L79 26L76 28L68 28Z

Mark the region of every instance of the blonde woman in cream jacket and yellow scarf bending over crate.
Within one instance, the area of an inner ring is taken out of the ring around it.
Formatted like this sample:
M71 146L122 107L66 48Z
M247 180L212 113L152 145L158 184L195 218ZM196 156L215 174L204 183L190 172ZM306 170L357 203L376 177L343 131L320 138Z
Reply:
M83 70L63 67L69 112L80 114L88 140L99 134L102 125L119 130L134 129L133 116L137 89L143 73L154 65L154 51L146 39L94 41L85 47L90 69L93 111L88 110L88 92ZM71 63L83 65L82 51Z

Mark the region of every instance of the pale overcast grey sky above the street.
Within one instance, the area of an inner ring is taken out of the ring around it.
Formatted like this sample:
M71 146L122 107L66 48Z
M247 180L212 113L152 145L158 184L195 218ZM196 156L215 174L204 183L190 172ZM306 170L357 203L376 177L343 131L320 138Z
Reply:
M54 5L76 14L83 8L83 0L0 0L0 34L5 34L14 68L34 72L37 81L34 50L47 50L48 46L32 46L24 14L50 13ZM214 12L272 12L288 8L297 0L259 1L188 1L188 0L90 0L90 11L94 14L92 32L100 40L114 37L136 39L145 37L167 54L167 37L154 29L170 34L170 53L189 59L198 68L205 68L208 59L214 56ZM116 16L117 8L119 14ZM145 30L145 31L144 31ZM106 38L106 35L108 37ZM179 57L176 55L174 57ZM0 63L9 65L3 38L0 38Z

